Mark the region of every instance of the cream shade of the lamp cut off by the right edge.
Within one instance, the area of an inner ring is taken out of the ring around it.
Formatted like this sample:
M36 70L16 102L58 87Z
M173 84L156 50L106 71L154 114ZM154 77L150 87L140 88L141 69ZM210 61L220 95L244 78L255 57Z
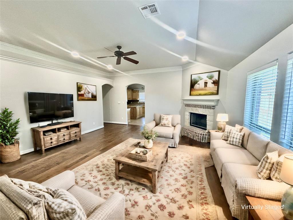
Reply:
M280 179L293 186L293 154L284 157Z

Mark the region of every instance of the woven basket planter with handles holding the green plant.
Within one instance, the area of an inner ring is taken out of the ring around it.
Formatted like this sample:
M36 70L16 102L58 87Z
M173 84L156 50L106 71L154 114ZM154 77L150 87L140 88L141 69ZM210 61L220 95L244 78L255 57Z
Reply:
M14 140L14 144L0 144L0 160L2 163L10 163L20 159L19 141Z

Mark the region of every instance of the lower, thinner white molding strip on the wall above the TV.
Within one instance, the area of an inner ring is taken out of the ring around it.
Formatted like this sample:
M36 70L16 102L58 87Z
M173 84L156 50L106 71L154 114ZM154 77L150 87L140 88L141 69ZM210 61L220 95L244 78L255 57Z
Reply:
M99 76L96 76L96 75L76 72L76 71L72 71L72 70L61 69L61 68L58 68L58 67L48 66L48 65L35 63L35 62L30 62L30 61L26 61L26 60L20 60L20 59L16 59L16 58L12 58L12 57L5 57L5 56L2 56L2 55L0 55L0 60L5 60L5 61L15 62L15 63L21 63L21 64L25 64L25 65L29 65L29 66L41 67L41 68L45 68L45 69L49 69L49 70L57 70L57 71L60 71L60 72L67 72L67 73L72 73L72 74L76 74L76 75L84 75L84 76L98 78L98 79L105 79L105 80L109 80L109 81L112 81L112 82L114 81L113 79L109 79L109 78L99 77Z

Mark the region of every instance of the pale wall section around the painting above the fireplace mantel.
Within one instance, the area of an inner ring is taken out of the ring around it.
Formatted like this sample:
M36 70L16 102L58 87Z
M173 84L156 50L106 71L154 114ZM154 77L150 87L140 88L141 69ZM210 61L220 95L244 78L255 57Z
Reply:
M186 65L187 66L187 65ZM227 77L228 71L219 69L217 67L199 64L194 65L192 67L186 68L183 66L182 70L182 98L183 99L220 99L218 106L215 108L214 120L216 120L218 113L225 113L225 105L226 105L226 88L227 88ZM219 80L219 95L209 95L209 96L190 96L190 77L192 74L203 73L203 72L211 72L220 70L220 80ZM184 125L184 105L182 104L181 109L181 125ZM214 123L214 128L217 127L217 123Z

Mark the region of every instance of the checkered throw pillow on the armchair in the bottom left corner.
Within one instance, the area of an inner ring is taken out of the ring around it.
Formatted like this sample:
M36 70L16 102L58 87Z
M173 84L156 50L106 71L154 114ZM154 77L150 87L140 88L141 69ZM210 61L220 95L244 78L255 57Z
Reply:
M86 214L77 199L64 189L47 188L54 199L45 203L50 219L53 220L85 220Z

